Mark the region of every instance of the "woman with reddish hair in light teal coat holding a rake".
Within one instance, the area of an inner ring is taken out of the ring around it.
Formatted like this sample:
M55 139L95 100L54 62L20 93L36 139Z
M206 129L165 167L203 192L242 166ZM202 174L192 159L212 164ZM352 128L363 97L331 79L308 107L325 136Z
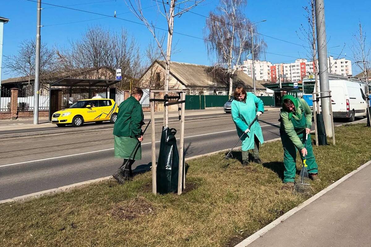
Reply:
M237 87L232 101L232 119L236 124L237 134L241 138L242 165L249 164L249 150L253 150L254 162L261 164L259 146L264 143L262 128L258 121L248 129L255 116L264 113L264 104L255 94L248 92L243 87Z

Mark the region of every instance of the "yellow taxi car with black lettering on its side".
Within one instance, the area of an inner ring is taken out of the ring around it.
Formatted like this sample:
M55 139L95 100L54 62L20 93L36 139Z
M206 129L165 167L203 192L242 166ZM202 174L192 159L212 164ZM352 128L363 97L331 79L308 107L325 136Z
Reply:
M52 123L58 127L72 124L74 127L82 126L83 123L111 121L115 123L118 106L112 99L87 99L73 103L67 109L56 111L52 115Z

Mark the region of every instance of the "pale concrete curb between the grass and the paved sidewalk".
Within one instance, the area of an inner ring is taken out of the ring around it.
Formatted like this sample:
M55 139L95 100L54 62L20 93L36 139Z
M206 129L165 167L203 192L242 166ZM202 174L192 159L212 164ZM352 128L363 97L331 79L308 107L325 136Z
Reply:
M345 180L347 180L348 178L350 178L351 176L353 176L355 173L359 172L360 170L362 170L363 168L367 167L370 164L371 164L371 160L369 162L367 162L367 163L364 163L362 166L359 166L354 171L348 173L347 175L345 175L344 177L342 177L341 179L339 179L335 183L332 183L330 186L324 188L322 191L318 192L317 194L315 194L314 196L312 196L311 198L309 198L308 200L306 200L302 204L299 204L295 208L293 208L290 211L286 212L281 217L277 218L275 221L272 221L270 224L266 225L265 227L263 227L262 229L260 229L256 233L250 235L250 237L246 238L245 240L243 240L242 242L240 242L239 244L237 244L234 247L246 247L246 246L248 246L253 241L255 241L257 238L262 237L262 235L265 234L265 233L267 233L267 231L271 230L276 225L279 225L281 222L283 222L286 219L288 219L291 215L295 214L296 212L298 212L299 210L303 209L304 207L306 207L307 205L309 205L310 203L312 203L316 199L320 198L326 192L331 191L331 189L334 189L340 183L344 182Z

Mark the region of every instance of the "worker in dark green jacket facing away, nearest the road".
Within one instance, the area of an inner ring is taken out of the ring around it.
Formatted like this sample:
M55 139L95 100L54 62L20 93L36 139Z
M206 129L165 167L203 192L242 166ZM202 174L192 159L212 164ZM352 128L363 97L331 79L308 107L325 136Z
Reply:
M112 175L118 182L121 182L121 179L119 179L120 175L125 180L132 178L132 164L135 160L142 159L140 142L143 141L142 125L144 124L144 115L142 105L139 103L142 96L143 91L141 88L135 87L131 91L131 96L119 106L113 132L115 157L124 159L124 163L129 161L127 170L118 169ZM137 150L130 156L138 142Z

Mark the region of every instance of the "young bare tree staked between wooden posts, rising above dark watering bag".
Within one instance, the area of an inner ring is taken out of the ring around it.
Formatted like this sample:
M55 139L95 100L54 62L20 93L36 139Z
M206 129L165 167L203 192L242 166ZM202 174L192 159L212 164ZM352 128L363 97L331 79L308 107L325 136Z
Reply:
M161 56L164 58L165 66L165 84L164 90L169 90L169 79L170 79L170 59L171 59L171 44L173 42L173 33L174 33L174 18L180 17L182 14L190 11L197 5L201 4L205 0L157 0L157 9L167 22L167 45L166 50L161 43L161 35L159 38L158 28L155 26L155 23L151 20L148 20L144 13L141 0L125 0L131 12L141 20L147 29L152 33L155 42L157 43L158 48L160 49ZM165 121L164 126L168 126L168 107L165 106Z

